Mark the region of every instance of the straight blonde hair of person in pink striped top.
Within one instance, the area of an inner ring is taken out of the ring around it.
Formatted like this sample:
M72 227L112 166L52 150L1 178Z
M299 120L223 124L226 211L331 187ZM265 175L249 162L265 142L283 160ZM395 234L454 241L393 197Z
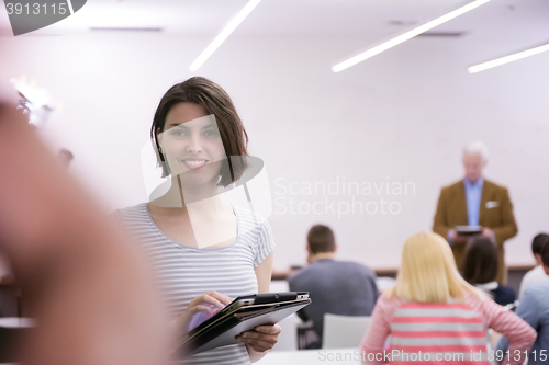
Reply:
M421 232L404 242L395 286L389 295L412 301L447 303L479 290L459 274L448 242L439 235Z

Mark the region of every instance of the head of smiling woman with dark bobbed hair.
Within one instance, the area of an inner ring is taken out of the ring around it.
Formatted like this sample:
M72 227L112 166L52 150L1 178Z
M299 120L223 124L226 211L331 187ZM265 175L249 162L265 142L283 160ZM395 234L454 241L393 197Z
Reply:
M177 83L164 94L150 137L163 178L181 174L190 183L215 179L227 186L247 168L248 136L233 101L202 77Z

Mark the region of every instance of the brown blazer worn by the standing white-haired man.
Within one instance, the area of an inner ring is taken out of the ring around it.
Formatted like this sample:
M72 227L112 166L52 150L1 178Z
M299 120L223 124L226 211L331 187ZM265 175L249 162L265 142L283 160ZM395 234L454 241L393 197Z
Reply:
M489 202L490 204L486 205ZM469 225L469 218L467 214L466 185L461 180L452 185L442 187L440 191L433 231L446 239L449 229L467 225ZM485 179L482 185L479 225L492 229L495 233L500 263L497 282L506 283L507 270L504 262L505 250L503 242L514 237L518 228L513 215L513 204L511 203L507 189ZM453 256L459 270L463 269L464 250L466 243L456 243L452 246Z

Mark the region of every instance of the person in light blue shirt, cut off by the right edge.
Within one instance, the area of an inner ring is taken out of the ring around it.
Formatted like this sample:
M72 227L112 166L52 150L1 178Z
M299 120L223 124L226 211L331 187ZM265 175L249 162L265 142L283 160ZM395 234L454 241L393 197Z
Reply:
M541 267L549 275L549 244L544 246L541 260ZM538 338L530 349L528 365L549 364L549 281L529 286L524 292L516 313L538 332ZM508 340L502 337L495 350L505 353L507 349Z

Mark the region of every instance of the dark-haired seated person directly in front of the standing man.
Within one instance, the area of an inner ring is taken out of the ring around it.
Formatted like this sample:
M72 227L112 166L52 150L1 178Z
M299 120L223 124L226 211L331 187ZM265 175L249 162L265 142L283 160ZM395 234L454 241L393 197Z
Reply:
M473 238L466 249L463 278L484 290L501 306L515 301L515 290L496 282L497 249L488 238Z

